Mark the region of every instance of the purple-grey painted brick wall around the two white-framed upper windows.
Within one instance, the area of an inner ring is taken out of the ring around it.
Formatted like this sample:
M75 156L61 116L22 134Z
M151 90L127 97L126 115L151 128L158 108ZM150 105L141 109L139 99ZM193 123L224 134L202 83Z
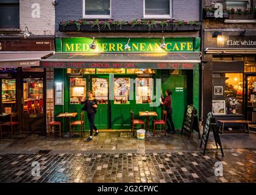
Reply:
M199 0L172 0L172 18L199 19ZM82 0L62 0L55 7L56 30L63 19L82 18ZM143 18L143 0L112 0L112 19L132 20Z

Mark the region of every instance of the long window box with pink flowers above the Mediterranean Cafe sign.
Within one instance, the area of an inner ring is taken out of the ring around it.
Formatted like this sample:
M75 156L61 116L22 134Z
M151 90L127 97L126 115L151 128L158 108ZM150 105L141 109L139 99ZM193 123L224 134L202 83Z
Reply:
M108 20L84 20L79 21L70 19L63 20L59 23L60 31L172 31L172 30L200 30L199 21L183 20L145 20L134 19L133 21L113 21Z

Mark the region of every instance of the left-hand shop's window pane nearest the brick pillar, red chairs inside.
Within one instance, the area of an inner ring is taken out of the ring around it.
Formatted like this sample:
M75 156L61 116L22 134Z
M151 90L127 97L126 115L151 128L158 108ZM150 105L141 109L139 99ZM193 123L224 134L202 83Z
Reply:
M43 79L23 80L24 113L43 112Z

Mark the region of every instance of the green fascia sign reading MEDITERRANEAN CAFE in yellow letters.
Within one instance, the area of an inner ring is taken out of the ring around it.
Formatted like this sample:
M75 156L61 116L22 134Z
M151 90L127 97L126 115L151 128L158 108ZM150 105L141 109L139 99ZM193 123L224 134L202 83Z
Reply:
M130 49L124 49L128 38L96 38L96 49L90 49L93 38L57 38L57 52L195 52L200 50L200 38L165 38L166 48L160 48L162 38L130 38Z

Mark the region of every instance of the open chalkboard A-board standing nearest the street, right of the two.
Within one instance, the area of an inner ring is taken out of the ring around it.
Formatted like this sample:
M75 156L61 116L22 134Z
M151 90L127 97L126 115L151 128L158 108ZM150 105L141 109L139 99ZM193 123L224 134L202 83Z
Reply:
M218 144L219 144L219 146L221 147L221 154L222 154L222 156L224 156L224 153L223 153L223 150L222 150L222 145L221 145L221 139L219 138L219 133L218 133L218 130L216 129L215 117L213 116L212 112L209 112L208 115L207 115L204 130L203 130L203 133L202 133L200 147L202 147L202 145L204 145L203 154L205 154L205 151L206 151L207 142L208 142L208 138L209 138L209 135L210 135L210 129L211 128L213 130L213 136L214 136L214 139L215 139L216 147L218 149Z

